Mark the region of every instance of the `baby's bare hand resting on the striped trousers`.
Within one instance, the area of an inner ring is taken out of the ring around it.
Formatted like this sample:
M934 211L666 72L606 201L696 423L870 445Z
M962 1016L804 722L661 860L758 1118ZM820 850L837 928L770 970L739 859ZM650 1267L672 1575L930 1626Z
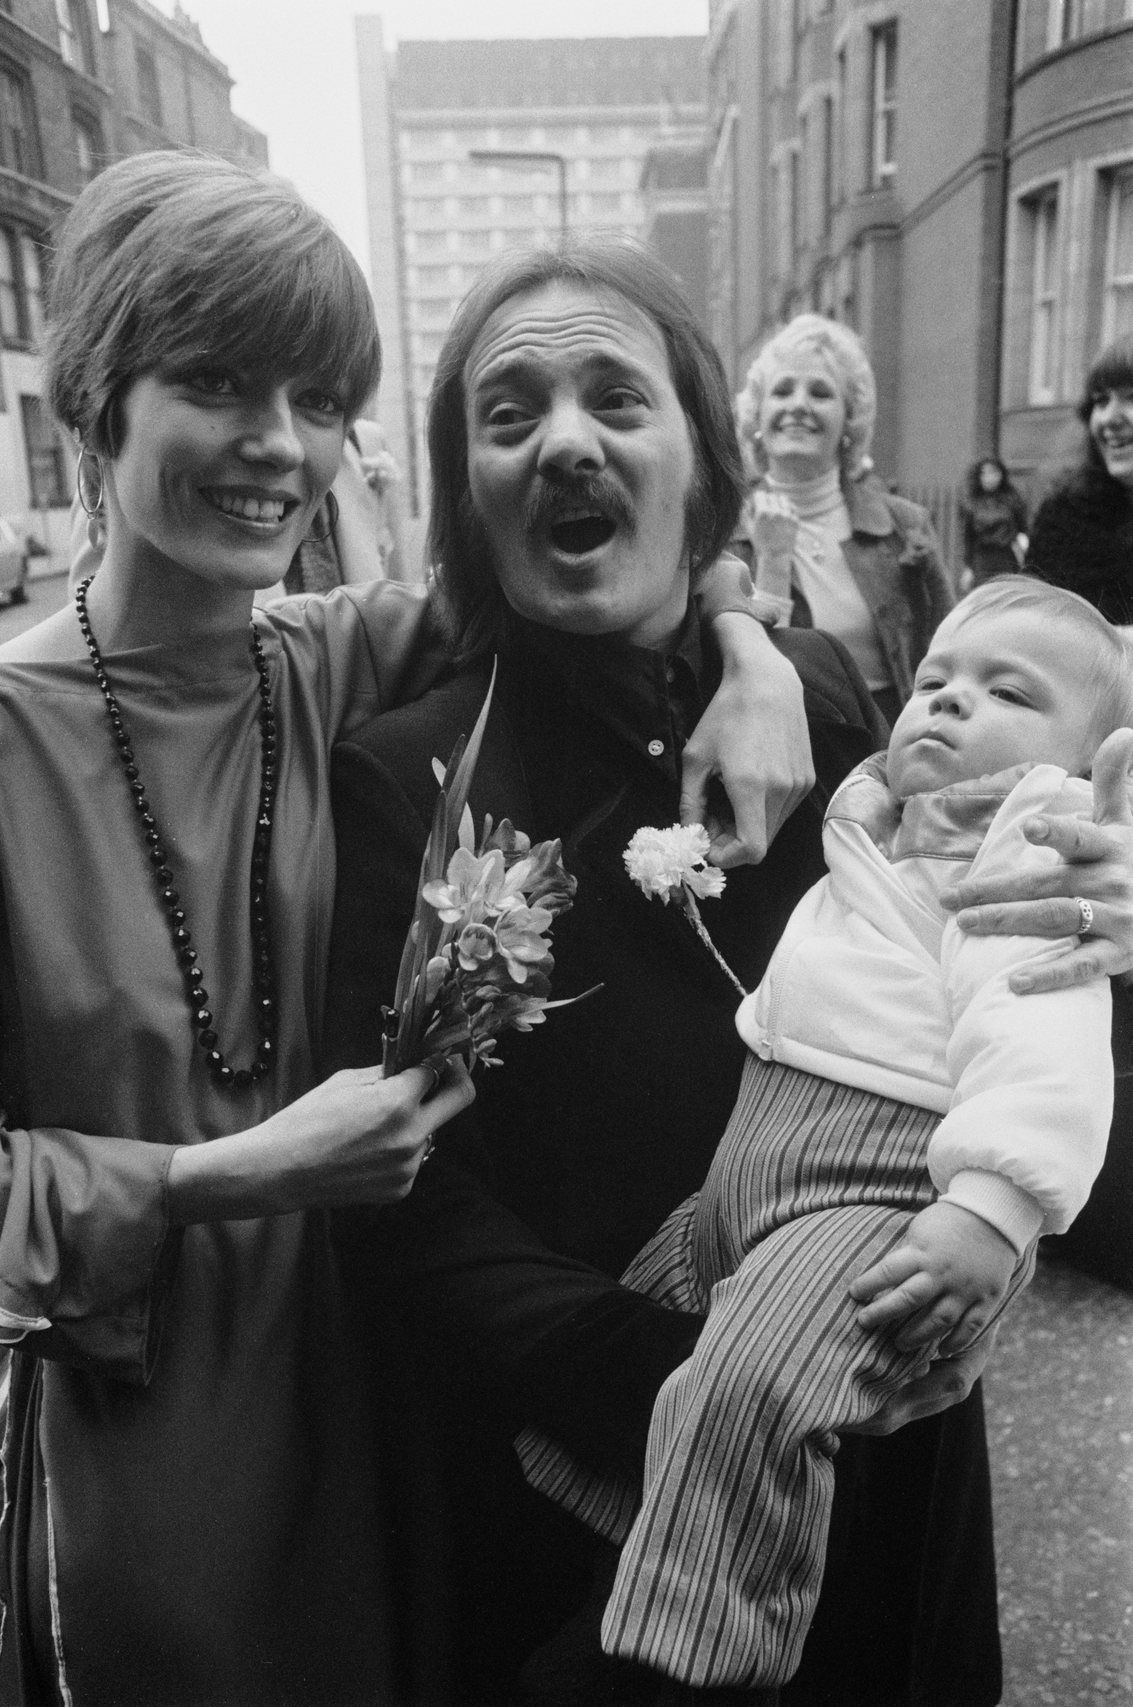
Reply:
M932 1203L901 1244L850 1285L863 1328L901 1325L903 1352L940 1340L945 1357L962 1352L1002 1302L1015 1248L990 1222L957 1203Z

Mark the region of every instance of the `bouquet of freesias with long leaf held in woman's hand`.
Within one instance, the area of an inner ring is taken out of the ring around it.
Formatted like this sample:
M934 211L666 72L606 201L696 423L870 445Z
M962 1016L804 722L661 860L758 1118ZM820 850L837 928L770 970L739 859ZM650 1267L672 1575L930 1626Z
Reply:
M548 932L575 893L561 843L532 848L507 818L495 826L486 818L476 842L468 794L493 686L495 671L468 744L457 741L447 766L433 760L440 794L394 1002L382 1009L387 1074L457 1053L469 1067L497 1067L503 1031L531 1031L549 1009L580 1000L549 1000Z

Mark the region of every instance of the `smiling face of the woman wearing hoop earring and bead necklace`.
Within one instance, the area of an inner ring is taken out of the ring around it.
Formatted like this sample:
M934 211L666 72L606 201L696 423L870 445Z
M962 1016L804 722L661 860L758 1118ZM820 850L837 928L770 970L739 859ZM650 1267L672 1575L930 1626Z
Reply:
M107 550L227 587L287 574L343 456L340 399L307 379L143 374L106 459Z

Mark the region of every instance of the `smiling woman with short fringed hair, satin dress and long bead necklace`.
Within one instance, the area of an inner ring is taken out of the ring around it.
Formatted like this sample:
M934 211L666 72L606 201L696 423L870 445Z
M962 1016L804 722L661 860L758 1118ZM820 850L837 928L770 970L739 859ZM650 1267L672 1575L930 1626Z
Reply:
M379 377L285 183L148 154L68 215L48 369L106 555L0 649L5 1702L394 1702L328 1210L403 1197L462 1069L316 1086L333 739L421 601L253 613Z

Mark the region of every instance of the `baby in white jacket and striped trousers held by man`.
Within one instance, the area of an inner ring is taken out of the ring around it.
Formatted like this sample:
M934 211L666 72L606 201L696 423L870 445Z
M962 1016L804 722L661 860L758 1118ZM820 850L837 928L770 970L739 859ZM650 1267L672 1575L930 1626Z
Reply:
M1130 722L1097 611L995 580L937 630L887 753L833 795L829 876L737 1014L751 1053L705 1186L623 1277L708 1311L657 1398L643 1499L517 1442L532 1485L625 1541L607 1654L701 1688L790 1678L836 1432L986 1331L1039 1232L1085 1202L1113 1113L1109 985L1014 995L1012 971L1077 939L969 937L938 896L1053 862L1022 826L1090 816L1082 778Z

